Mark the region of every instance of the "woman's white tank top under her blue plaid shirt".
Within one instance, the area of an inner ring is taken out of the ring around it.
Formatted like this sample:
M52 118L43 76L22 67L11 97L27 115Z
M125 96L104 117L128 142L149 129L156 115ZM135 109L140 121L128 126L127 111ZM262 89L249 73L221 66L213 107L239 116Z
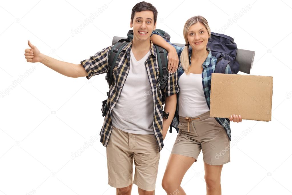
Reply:
M203 91L201 73L189 75L183 73L178 80L178 86L180 88L178 115L196 117L210 111Z

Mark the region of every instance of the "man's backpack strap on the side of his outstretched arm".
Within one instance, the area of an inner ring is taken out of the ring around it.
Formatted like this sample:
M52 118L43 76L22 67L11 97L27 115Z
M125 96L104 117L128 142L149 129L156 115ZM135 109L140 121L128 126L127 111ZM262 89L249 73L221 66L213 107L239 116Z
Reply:
M123 47L126 44L127 44L127 42L122 42L122 43L119 42L119 43L115 44L109 53L108 70L107 70L107 76L105 77L105 79L107 80L107 84L109 84L109 87L113 81L112 71L114 69L114 65L117 62L117 59L119 57L119 54L121 53L121 50L123 49Z

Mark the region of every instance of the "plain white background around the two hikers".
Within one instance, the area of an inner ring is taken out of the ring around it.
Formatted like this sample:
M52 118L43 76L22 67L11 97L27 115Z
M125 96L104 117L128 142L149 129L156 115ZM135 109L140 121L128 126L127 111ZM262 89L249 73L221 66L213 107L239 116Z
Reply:
M107 184L106 152L99 141L105 75L65 77L28 63L24 50L30 40L45 55L79 64L111 45L113 36L126 36L137 2L1 1L0 195L115 194ZM222 194L292 194L291 1L150 2L158 10L157 28L175 43L184 43L183 25L194 15L204 16L211 31L219 32L251 6L224 34L238 48L256 51L251 75L273 76L272 121L231 123L231 162L223 166ZM92 23L72 36L98 9L103 11ZM13 86L15 80L20 82ZM161 180L175 137L168 132L161 151L158 195L165 194ZM72 159L92 138L93 145ZM206 194L201 154L181 186L187 194ZM138 194L135 185L132 194Z

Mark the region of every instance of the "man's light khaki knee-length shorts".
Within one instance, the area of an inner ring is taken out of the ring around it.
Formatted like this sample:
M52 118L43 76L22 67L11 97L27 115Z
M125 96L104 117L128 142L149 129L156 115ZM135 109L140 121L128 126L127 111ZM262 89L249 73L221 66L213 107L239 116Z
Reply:
M110 186L121 188L134 183L143 190L155 189L160 153L153 134L127 133L113 126L106 151Z

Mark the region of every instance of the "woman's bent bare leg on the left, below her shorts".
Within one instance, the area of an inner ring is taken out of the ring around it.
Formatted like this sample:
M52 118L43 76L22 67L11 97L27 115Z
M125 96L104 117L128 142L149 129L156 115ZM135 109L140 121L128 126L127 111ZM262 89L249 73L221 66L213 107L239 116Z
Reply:
M180 184L185 173L194 162L195 159L189 156L170 155L162 179L162 187L168 195L185 195L185 191L180 187Z

